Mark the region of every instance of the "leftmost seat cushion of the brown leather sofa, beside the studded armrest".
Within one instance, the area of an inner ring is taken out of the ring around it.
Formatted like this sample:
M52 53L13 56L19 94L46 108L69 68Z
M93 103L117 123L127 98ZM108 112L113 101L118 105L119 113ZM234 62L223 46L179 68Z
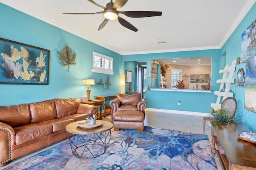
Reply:
M15 143L20 145L35 139L44 137L52 133L51 124L40 125L38 123L31 123L24 126L14 127L15 131Z

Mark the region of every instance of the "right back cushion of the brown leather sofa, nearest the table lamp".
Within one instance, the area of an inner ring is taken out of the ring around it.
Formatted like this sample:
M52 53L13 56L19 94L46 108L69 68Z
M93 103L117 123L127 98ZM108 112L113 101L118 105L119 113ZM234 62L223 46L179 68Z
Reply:
M80 104L80 100L76 98L70 99L53 99L56 106L57 117L72 115L76 113Z

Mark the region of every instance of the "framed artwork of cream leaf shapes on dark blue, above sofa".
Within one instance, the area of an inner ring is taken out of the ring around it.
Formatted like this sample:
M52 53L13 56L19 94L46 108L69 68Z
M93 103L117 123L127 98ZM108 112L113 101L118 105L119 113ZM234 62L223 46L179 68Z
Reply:
M49 81L50 50L0 38L0 84Z

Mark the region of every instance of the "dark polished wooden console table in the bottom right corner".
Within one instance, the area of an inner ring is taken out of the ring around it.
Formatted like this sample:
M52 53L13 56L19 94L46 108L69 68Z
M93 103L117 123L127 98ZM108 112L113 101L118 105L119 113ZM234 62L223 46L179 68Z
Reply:
M256 170L256 144L238 139L241 131L251 131L242 124L223 124L210 121L212 125L213 155L217 153L223 170ZM215 147L216 144L216 147Z

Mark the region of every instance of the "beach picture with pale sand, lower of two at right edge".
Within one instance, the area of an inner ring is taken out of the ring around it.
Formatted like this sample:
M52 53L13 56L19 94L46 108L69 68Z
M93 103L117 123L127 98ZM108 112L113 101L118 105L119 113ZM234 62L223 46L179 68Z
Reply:
M246 60L244 108L256 112L256 56Z

